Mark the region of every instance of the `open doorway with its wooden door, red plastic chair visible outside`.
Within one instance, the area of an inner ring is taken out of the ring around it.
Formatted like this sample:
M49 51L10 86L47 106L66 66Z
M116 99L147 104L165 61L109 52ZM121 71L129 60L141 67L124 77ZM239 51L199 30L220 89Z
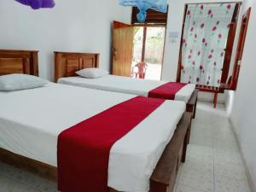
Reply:
M132 9L131 25L113 22L113 75L137 79L161 79L167 13L148 9L144 23Z

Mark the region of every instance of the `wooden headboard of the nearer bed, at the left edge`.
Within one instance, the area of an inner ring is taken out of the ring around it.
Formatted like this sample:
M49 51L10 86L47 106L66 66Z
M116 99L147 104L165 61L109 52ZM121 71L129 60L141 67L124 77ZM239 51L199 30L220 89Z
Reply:
M38 76L38 51L0 49L0 75L11 73Z

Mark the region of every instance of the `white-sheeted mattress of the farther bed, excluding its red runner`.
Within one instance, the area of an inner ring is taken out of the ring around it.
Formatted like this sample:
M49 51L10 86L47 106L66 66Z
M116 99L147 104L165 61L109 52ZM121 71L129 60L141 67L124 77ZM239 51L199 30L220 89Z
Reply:
M68 77L58 80L59 84L70 84L79 87L85 87L96 90L108 90L120 93L127 93L137 96L148 96L150 90L154 90L166 81L156 81L148 79L131 79L115 75L105 75L98 79L86 79L81 77ZM175 96L175 100L181 102L189 102L195 90L195 84L187 84L183 89L179 90Z

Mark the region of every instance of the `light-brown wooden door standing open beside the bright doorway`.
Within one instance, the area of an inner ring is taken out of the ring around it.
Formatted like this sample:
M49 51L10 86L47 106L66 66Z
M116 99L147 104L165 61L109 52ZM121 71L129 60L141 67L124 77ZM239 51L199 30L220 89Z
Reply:
M133 26L113 21L113 75L131 77Z

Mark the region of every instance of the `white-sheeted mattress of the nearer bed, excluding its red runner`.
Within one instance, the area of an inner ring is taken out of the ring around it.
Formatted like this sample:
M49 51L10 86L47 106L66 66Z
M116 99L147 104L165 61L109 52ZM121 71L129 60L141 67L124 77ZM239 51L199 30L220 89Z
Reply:
M132 97L53 83L33 90L0 91L0 148L57 166L61 131ZM126 192L148 191L149 177L184 111L184 102L166 101L114 143L108 186Z

